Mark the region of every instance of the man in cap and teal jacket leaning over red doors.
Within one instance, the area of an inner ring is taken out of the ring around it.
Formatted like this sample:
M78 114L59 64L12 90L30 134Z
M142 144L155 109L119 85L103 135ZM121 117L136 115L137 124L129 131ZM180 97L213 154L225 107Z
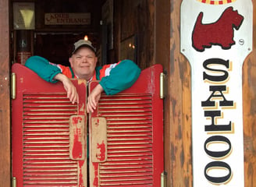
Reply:
M79 102L79 97L70 78L86 79L87 83L100 80L87 97L87 112L89 113L97 107L102 91L108 95L117 94L132 86L140 76L140 69L130 60L96 67L98 58L95 52L91 41L80 40L73 45L69 58L70 67L53 64L39 56L28 58L25 65L50 83L61 81L72 103Z

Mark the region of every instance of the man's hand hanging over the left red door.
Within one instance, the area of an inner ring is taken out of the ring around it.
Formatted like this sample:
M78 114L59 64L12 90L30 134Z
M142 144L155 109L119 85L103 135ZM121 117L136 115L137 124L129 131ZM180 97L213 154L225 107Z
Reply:
M54 78L62 82L64 89L66 90L67 97L69 98L69 101L71 101L73 104L75 102L79 103L79 97L76 91L76 86L73 85L70 79L62 73L57 74Z

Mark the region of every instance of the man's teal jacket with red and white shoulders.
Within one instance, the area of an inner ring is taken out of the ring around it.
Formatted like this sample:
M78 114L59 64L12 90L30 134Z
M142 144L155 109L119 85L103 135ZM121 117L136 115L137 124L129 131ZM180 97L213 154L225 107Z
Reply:
M50 83L58 81L54 79L58 73L62 73L70 79L79 78L74 74L71 67L53 64L40 56L28 58L25 66ZM139 76L139 67L130 60L123 60L115 64L96 67L91 80L99 80L105 94L113 95L132 86Z

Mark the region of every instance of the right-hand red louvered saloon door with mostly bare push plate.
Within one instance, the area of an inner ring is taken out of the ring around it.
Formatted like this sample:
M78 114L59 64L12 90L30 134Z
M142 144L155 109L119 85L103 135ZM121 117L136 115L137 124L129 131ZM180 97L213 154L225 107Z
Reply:
M160 187L163 164L161 65L119 94L101 95L90 116L90 186ZM98 83L89 85L92 90Z

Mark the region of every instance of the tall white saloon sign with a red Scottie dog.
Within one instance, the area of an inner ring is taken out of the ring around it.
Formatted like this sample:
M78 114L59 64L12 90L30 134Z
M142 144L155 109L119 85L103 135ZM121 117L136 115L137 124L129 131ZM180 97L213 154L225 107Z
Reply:
M190 62L194 187L244 186L242 67L252 50L251 0L183 0Z

